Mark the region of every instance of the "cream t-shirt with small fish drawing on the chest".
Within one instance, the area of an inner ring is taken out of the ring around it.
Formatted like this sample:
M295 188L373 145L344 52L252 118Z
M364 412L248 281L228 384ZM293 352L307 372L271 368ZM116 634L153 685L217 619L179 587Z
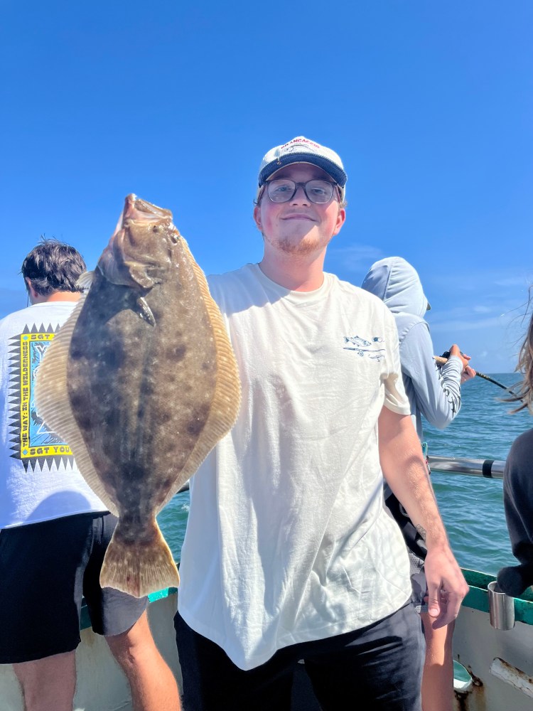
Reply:
M209 282L242 405L191 481L178 604L250 669L409 599L377 444L382 406L409 415L409 402L394 317L377 297L333 274L291 292L257 264Z

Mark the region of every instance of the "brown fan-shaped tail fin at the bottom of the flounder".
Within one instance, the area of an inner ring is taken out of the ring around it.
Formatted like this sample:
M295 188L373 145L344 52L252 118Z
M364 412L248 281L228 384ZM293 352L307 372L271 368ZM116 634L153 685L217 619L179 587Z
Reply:
M122 535L119 519L100 570L101 587L114 587L134 597L178 587L178 568L155 518L151 533L148 542L129 542Z

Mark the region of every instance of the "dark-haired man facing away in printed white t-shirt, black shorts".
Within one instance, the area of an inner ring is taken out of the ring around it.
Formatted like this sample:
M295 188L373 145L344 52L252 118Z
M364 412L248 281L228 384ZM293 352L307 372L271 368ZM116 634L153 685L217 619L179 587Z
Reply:
M72 711L83 593L135 711L176 711L176 680L151 636L146 597L99 585L117 519L34 402L34 377L80 299L85 263L73 247L43 240L21 272L31 306L0 321L0 663L13 664L26 711Z

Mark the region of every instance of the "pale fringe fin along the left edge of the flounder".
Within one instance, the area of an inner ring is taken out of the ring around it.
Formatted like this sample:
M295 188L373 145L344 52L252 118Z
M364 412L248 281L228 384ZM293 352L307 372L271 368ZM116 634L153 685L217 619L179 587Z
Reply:
M92 274L92 272L82 274L79 279L80 286L82 286L81 280L87 277L87 274ZM86 296L87 294L82 294L74 311L72 311L68 320L65 321L53 338L44 355L43 362L38 367L35 390L36 406L39 416L44 419L48 427L62 437L72 449L77 468L85 481L87 481L87 484L92 488L92 491L102 499L111 513L118 515L117 506L115 506L97 476L90 453L87 450L80 428L77 426L68 395L70 341L72 340L72 333L77 324L77 319L85 304Z

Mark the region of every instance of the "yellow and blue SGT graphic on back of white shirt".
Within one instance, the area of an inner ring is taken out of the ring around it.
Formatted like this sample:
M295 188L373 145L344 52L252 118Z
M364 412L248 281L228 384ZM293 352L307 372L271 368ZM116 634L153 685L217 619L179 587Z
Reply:
M35 405L34 383L41 360L55 336L57 328L51 325L25 328L23 333L13 336L9 346L9 436L12 457L20 459L24 469L35 469L36 464L63 466L74 461L68 444L58 434L52 432L39 417Z

